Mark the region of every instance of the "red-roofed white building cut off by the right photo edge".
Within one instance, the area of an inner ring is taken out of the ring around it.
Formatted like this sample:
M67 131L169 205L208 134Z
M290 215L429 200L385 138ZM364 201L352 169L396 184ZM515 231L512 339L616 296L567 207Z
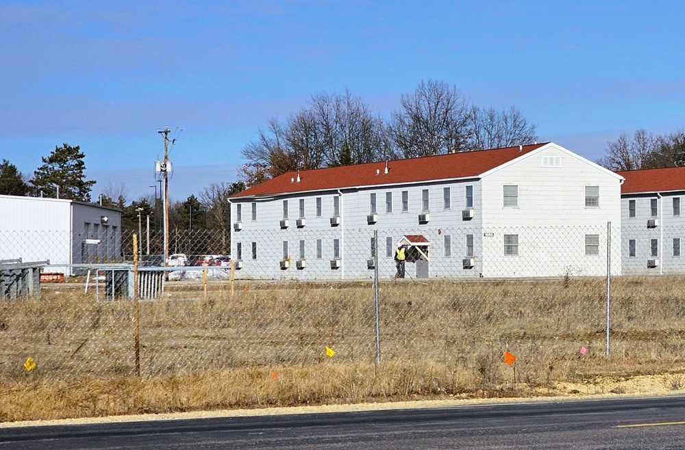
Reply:
M685 168L626 170L621 186L623 274L685 272Z

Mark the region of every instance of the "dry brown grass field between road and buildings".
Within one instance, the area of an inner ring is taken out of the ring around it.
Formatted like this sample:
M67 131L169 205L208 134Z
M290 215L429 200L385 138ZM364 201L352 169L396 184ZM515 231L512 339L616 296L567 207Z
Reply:
M0 304L0 420L554 395L650 373L680 388L683 281L614 279L610 358L603 280L382 284L380 365L370 284L213 284L206 299L172 284L140 305L140 378L132 302L46 291Z

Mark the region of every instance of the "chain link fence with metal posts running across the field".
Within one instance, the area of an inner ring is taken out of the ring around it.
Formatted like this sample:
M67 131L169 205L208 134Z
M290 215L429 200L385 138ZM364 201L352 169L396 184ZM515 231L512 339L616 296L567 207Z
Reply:
M83 243L2 232L0 248L27 252L0 259L49 260L42 272L66 280L42 283L40 295L0 297L0 380L334 358L420 361L496 383L507 350L522 381L542 383L574 376L580 358L606 358L608 337L607 364L668 367L685 349L683 235L608 226L295 228L241 231L231 243L226 233L174 231L170 253L188 265L165 269L163 239L143 233L134 280L129 235ZM395 276L398 243L405 278ZM0 285L21 275L12 264L0 263Z

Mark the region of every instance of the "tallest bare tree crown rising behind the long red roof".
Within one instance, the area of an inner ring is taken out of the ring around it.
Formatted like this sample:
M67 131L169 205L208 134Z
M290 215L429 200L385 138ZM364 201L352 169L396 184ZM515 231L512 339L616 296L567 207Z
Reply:
M469 105L456 88L444 81L421 81L400 103L390 124L400 155L410 158L466 149L471 134Z

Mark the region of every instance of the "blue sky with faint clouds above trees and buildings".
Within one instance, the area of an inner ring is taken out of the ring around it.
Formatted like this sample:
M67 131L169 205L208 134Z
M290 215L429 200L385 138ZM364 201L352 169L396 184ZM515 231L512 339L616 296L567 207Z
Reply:
M67 142L93 197L234 181L272 117L346 88L389 118L422 79L518 107L596 160L610 140L685 128L681 1L0 0L0 158L24 174Z

